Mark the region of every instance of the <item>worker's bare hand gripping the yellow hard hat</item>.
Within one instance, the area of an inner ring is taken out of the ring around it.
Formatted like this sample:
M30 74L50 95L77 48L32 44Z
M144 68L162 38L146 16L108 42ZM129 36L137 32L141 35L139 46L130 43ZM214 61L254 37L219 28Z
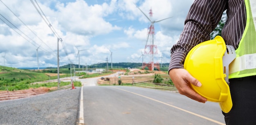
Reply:
M180 94L186 95L187 97L202 103L207 101L206 98L202 97L190 88L189 83L198 87L202 86L202 84L190 75L186 69L171 69L169 71L169 76Z

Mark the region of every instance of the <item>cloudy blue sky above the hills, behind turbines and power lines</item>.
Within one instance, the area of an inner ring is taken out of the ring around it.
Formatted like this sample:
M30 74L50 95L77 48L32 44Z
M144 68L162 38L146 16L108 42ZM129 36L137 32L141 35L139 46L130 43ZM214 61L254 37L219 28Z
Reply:
M113 63L141 63L150 23L135 4L148 17L152 9L152 20L172 17L155 23L154 34L157 45L154 62L161 63L162 57L162 63L169 63L170 49L182 32L193 3L193 0L32 0L39 4L57 32L56 37L30 0L1 1L0 19L5 23L0 20L0 65L8 67L37 67L39 46L39 67L56 66L58 37L63 40L59 43L60 65L70 61L79 64L78 50L83 50L79 51L80 65L104 63L107 58L110 62L111 52ZM150 56L144 54L144 62L150 62Z

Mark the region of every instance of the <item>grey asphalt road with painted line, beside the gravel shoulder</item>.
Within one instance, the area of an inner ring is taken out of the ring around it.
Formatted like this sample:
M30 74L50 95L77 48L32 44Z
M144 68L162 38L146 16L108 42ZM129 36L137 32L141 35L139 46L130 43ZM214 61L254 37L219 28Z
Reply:
M225 124L218 103L199 103L179 93L149 88L96 86L97 78L84 80L85 125Z

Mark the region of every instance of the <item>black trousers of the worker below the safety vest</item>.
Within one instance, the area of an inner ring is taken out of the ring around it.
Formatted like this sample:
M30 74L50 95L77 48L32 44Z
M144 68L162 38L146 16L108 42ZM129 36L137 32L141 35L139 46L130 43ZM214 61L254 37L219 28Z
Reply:
M233 107L224 113L227 125L256 125L256 76L229 80Z

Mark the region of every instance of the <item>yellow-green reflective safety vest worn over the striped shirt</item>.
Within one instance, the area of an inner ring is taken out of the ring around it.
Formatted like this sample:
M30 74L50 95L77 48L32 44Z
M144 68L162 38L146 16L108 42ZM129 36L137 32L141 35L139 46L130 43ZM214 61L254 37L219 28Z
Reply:
M256 75L256 0L245 0L246 26L229 65L229 79Z

